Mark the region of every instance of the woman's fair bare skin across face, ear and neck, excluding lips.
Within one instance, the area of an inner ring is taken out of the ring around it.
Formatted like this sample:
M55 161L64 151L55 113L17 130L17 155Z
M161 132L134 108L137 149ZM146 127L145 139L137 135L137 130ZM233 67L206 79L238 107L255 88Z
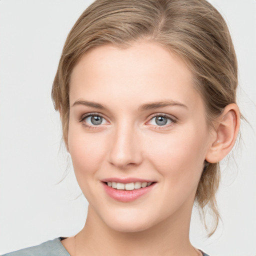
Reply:
M171 104L141 107L159 101ZM203 101L186 64L152 42L135 42L126 49L99 46L74 67L69 102L66 144L89 207L75 240L62 240L68 252L200 255L189 242L191 209L204 160L222 157L216 149L220 122L209 131ZM237 116L234 108L223 112L228 125ZM102 123L93 125L90 117L84 118L90 113L100 114ZM166 125L155 121L162 114L170 118ZM235 125L230 128L233 133ZM224 124L221 127L225 130ZM156 183L138 199L120 202L103 189L102 179L109 177Z

